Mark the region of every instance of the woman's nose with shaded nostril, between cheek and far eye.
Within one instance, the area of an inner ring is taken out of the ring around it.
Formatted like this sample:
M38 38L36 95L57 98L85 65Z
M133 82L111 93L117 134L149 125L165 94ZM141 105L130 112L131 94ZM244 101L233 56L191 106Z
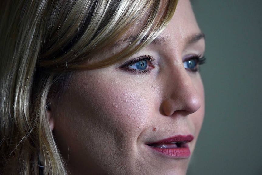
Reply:
M200 92L195 88L196 83L199 83L196 76L195 73L185 70L183 66L166 73L165 84L162 86L164 95L161 103L164 115L186 116L201 107ZM202 86L202 81L200 83Z

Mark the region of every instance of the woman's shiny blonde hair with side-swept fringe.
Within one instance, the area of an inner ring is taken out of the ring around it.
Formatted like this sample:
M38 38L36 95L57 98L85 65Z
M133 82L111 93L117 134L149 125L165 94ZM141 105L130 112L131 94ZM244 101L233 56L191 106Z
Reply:
M66 174L46 118L48 104L75 70L112 65L149 44L176 5L177 0L1 2L0 174L39 174L39 156L44 174ZM113 57L91 60L142 16L146 22L130 45Z

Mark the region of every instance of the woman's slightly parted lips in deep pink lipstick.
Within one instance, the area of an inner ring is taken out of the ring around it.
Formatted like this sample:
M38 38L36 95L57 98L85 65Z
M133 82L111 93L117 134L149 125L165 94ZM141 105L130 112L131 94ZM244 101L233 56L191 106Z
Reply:
M187 158L191 154L187 143L193 139L192 135L176 135L147 145L166 156Z

